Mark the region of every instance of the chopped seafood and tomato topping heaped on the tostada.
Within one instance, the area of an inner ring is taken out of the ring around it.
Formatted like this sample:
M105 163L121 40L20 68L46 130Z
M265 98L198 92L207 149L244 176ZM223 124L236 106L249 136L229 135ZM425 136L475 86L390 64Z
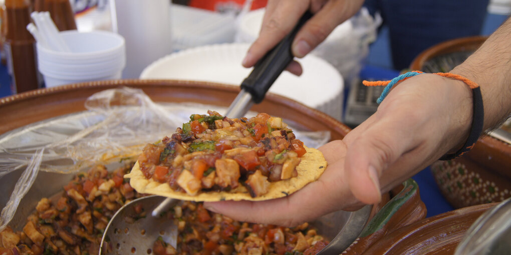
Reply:
M297 176L306 152L282 118L260 113L231 119L208 111L147 144L138 164L146 179L190 195L243 185L257 197L268 192L270 182Z

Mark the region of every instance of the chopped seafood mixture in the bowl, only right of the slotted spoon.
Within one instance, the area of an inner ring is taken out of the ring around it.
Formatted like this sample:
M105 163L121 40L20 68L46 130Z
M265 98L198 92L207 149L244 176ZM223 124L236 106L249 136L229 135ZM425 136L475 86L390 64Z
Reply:
M328 244L308 223L288 228L240 222L209 212L198 202L183 201L168 217L178 226L177 247L159 238L154 254L310 255Z

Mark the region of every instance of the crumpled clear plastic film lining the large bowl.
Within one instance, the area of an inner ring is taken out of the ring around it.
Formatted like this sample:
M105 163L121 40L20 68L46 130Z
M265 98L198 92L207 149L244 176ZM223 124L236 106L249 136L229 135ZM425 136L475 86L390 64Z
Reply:
M0 215L0 231L12 219L39 171L76 173L95 164L134 158L147 143L173 134L191 114L206 114L207 110L223 114L227 110L195 103L156 104L142 90L127 87L90 96L85 108L0 136L0 185L8 183L7 174L23 171ZM309 147L330 140L328 131L294 133Z

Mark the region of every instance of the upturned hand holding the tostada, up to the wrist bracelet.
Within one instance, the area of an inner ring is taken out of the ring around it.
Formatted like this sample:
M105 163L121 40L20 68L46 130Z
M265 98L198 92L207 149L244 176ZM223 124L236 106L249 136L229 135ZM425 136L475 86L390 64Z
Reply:
M283 198L204 206L235 220L294 226L377 203L382 191L461 147L471 117L467 85L435 74L417 75L394 87L378 111L342 141L319 148L329 165L316 182Z

